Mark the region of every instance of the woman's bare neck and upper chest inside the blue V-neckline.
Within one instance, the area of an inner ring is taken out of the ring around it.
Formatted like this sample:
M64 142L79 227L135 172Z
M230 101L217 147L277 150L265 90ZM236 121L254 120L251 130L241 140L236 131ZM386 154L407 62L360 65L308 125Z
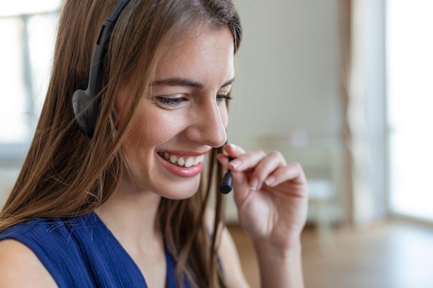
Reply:
M149 191L120 189L95 209L136 263L149 287L165 287L163 233L158 222L160 196Z

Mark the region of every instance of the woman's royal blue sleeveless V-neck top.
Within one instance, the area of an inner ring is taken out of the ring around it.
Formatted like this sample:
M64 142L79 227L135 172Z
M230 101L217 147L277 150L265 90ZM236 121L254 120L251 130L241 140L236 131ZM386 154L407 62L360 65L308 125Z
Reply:
M96 213L75 218L35 219L0 233L29 247L59 288L147 287L140 269ZM177 287L176 262L165 249L167 287ZM184 278L185 287L191 287Z

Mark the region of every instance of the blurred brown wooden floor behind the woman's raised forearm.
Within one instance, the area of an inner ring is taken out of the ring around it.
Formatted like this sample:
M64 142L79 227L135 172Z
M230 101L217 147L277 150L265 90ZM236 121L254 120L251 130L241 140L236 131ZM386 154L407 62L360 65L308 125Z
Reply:
M243 271L259 288L252 244L237 226L229 227ZM392 220L368 229L333 229L321 242L313 227L302 234L306 288L432 288L433 227Z

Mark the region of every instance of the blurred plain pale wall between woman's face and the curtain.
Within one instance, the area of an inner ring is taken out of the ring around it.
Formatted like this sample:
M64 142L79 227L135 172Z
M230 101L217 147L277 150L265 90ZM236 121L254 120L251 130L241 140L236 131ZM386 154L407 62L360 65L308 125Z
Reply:
M339 137L337 0L235 0L243 24L231 142L302 129Z

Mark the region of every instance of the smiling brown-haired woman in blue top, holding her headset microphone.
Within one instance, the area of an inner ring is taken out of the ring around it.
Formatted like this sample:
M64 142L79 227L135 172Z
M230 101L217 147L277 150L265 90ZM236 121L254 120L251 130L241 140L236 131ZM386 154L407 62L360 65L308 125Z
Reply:
M303 287L302 169L223 145L240 40L230 0L65 1L0 287L248 287L221 193L207 208L223 169L262 287Z

